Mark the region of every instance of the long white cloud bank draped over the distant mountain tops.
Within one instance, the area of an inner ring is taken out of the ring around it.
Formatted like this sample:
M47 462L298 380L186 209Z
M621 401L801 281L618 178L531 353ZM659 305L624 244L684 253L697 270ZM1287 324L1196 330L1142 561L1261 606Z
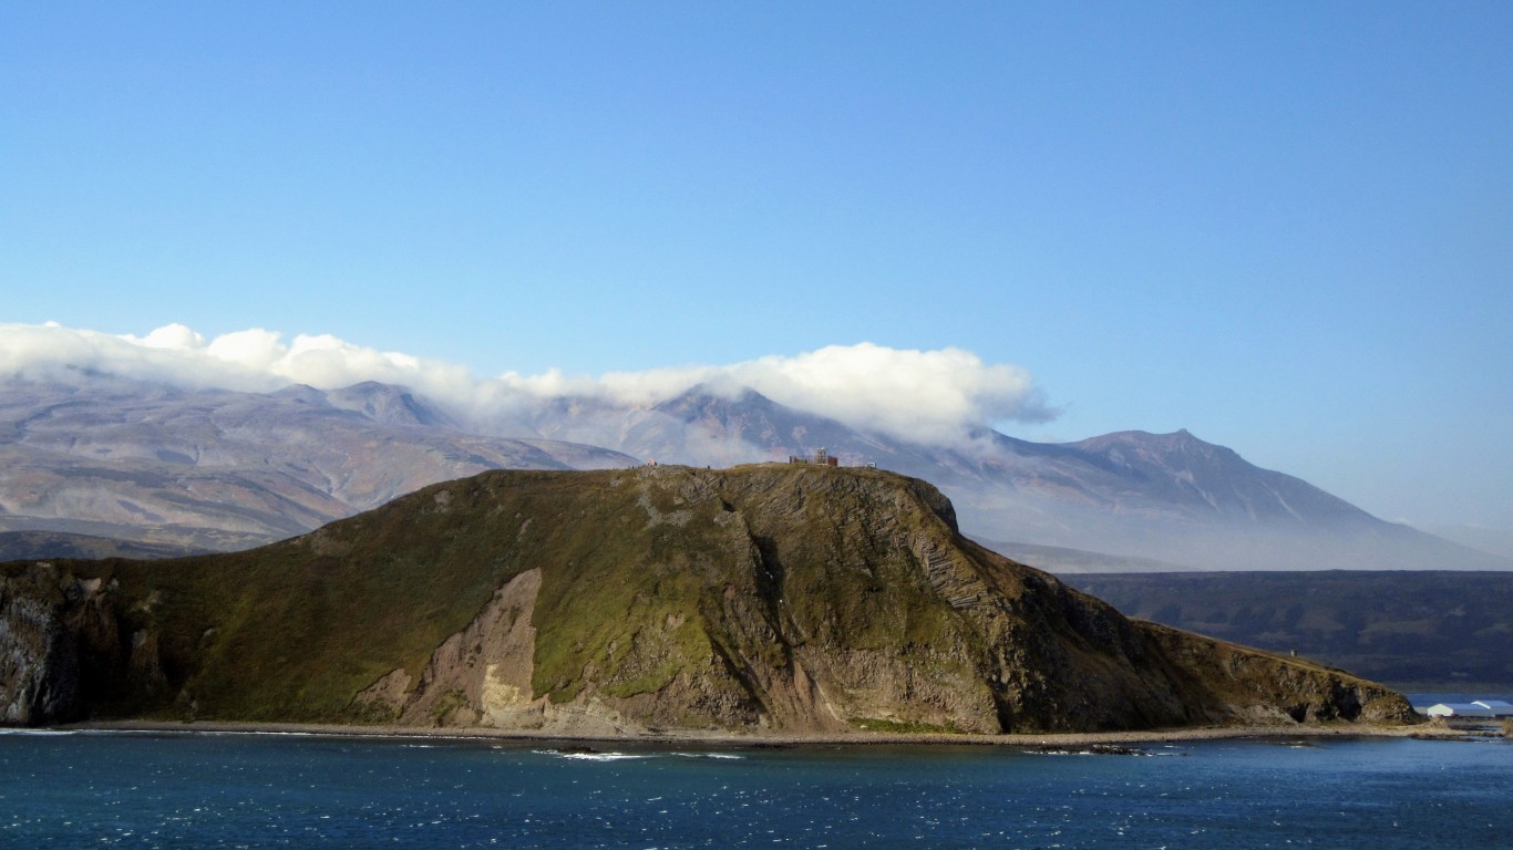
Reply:
M412 387L464 419L496 417L542 398L651 405L696 384L731 393L750 387L855 428L924 443L958 442L993 422L1045 422L1056 416L1029 372L983 363L959 348L917 351L862 342L726 366L480 378L455 363L378 351L328 334L298 334L286 342L281 333L250 328L206 339L171 324L139 337L56 324L0 324L0 375L57 380L77 371L251 392L381 381Z

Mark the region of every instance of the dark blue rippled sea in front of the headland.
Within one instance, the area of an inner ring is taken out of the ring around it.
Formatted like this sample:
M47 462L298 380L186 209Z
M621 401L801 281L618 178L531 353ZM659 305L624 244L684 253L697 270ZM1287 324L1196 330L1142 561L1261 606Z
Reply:
M0 734L0 847L1507 847L1513 744Z

